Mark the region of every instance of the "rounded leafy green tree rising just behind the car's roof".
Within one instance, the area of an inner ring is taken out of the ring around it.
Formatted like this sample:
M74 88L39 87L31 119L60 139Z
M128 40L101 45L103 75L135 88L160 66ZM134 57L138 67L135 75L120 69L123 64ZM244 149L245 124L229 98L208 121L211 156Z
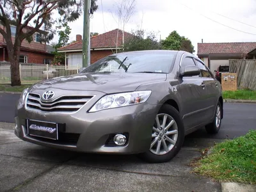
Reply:
M161 41L161 45L163 49L195 52L191 41L184 36L180 36L177 31L172 31L165 40Z

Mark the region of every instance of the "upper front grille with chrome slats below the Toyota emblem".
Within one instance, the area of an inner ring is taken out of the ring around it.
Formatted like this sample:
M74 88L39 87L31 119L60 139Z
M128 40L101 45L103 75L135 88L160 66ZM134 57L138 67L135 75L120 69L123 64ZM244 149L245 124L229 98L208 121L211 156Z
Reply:
M51 102L44 102L40 95L29 93L26 108L31 111L47 113L74 113L86 104L92 95L63 95Z

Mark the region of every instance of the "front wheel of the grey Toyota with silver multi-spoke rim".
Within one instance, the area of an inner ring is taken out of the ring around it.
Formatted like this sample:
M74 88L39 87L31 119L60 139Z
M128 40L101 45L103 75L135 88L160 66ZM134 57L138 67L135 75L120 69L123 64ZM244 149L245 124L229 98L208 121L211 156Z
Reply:
M164 126L165 129L163 129L162 127L164 116L166 116L166 125ZM157 126L157 118L159 119L158 126ZM167 125L170 125L170 127L168 128ZM170 141L172 141L172 143ZM173 143L173 141L175 141L175 143ZM147 161L148 163L168 162L178 154L178 152L180 151L180 148L183 145L183 141L184 141L184 125L182 122L182 118L179 115L179 111L173 108L173 106L164 104L159 110L159 112L157 113L156 120L153 125L152 141L151 141L152 147L150 145L150 148L148 149L147 152L143 154L139 154L138 156L141 159L143 159L143 161ZM158 147L159 143L161 143L160 148ZM165 147L164 147L164 143L166 143ZM158 148L159 150L157 150Z

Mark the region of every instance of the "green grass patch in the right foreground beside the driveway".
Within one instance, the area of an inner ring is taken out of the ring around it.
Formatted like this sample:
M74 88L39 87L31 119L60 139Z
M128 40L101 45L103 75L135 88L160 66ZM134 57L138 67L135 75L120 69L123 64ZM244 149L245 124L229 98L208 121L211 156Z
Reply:
M256 184L256 130L216 144L208 156L191 163L193 172L212 179Z

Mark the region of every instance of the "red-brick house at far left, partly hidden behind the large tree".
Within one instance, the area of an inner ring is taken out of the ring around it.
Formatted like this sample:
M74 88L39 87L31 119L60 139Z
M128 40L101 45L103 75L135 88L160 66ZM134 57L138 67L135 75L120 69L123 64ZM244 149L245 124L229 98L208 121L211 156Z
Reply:
M0 28L5 27L0 24ZM29 30L31 27L27 27L24 30ZM12 40L14 42L16 27L11 26ZM27 40L23 40L20 47L20 63L38 63L38 64L49 64L53 60L54 55L51 51L54 51L51 45L43 44L40 42L40 37L45 34L45 31L38 31L32 36L32 42L29 44ZM10 61L8 51L6 49L6 41L3 35L0 33L0 61Z

